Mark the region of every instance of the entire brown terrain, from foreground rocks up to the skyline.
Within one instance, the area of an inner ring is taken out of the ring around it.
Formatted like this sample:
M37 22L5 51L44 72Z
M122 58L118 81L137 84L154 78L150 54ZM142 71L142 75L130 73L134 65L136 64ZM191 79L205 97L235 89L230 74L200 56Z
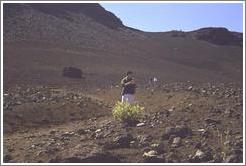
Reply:
M98 4L4 4L3 22L4 162L242 162L242 34L143 32ZM133 126L112 117L126 70Z

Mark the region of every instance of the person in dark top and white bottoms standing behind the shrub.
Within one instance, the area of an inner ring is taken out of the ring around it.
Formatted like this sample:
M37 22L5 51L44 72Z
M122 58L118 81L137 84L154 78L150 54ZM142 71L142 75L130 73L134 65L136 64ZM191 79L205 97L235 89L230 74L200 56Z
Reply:
M136 84L133 78L132 71L128 71L126 73L126 76L121 80L121 85L122 85L121 102L133 103Z

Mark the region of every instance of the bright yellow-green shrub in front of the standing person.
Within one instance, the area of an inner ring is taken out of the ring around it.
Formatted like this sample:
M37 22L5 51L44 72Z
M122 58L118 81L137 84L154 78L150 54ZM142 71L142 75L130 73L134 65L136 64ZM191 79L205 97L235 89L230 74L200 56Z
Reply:
M113 109L113 117L123 122L136 121L140 111L143 109L144 107L141 107L138 104L129 104L128 102L118 101Z

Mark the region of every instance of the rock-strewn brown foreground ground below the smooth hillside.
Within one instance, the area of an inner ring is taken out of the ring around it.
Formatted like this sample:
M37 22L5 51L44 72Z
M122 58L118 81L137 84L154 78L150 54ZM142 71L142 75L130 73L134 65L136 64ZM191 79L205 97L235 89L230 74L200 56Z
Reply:
M138 89L136 126L113 119L118 86L4 92L4 162L242 162L242 89L170 83ZM85 95L87 94L87 95Z

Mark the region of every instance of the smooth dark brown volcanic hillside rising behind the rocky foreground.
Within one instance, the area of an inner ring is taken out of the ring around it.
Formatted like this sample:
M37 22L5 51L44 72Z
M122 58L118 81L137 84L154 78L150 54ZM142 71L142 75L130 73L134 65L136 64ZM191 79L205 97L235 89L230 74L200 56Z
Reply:
M127 70L139 82L242 82L242 34L225 28L143 32L99 4L5 3L3 10L6 86L66 84L67 66L92 86L118 83Z

